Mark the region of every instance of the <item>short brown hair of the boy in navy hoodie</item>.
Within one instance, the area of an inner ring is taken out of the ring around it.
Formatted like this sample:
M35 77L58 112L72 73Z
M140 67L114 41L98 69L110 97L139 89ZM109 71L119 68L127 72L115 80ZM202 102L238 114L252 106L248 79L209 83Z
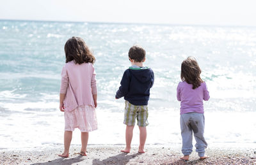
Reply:
M134 62L142 62L145 59L145 56L145 50L138 45L134 45L129 50L129 58L133 59Z

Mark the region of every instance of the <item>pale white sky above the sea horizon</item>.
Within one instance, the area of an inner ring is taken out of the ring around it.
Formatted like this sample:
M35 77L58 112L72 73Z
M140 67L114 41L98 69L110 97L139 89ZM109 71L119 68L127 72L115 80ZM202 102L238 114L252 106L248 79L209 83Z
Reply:
M256 26L255 0L0 0L0 19Z

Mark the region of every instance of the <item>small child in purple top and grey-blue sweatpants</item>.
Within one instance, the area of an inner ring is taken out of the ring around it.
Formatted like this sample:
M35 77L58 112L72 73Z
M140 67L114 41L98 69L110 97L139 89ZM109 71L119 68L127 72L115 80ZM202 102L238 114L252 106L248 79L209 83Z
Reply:
M181 64L180 78L182 82L177 87L177 99L180 102L180 129L182 136L182 154L188 161L192 152L192 134L196 140L196 152L200 159L205 159L207 143L204 139L204 104L209 100L206 83L200 78L201 69L194 57L188 57Z

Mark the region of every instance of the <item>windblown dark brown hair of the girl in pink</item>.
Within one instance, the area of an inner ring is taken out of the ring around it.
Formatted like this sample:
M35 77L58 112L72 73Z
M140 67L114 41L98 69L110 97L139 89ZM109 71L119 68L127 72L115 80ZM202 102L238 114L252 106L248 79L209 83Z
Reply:
M84 40L79 37L72 37L65 43L65 54L66 63L70 61L75 61L76 64L83 64L84 62L95 62L95 57L89 48L85 44Z

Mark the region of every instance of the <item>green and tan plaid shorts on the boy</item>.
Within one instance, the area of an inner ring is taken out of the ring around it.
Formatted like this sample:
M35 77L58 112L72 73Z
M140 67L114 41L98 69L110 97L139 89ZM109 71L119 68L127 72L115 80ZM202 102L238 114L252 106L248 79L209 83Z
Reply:
M134 126L136 118L138 120L138 126L148 126L148 106L136 106L129 103L129 101L125 101L124 124Z

